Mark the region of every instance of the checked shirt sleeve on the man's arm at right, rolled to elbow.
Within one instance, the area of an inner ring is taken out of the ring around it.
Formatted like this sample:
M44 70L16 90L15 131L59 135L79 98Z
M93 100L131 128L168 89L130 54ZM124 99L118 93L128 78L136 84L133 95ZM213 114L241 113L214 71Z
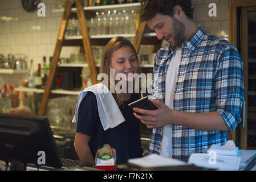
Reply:
M217 112L232 132L241 121L244 100L243 61L233 46L227 46L220 57L215 88Z

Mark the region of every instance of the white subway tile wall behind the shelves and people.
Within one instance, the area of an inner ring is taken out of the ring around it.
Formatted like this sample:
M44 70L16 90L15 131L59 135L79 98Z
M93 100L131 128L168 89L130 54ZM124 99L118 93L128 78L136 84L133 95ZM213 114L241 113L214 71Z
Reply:
M192 0L195 6L194 20L201 24L209 34L229 38L229 6L228 0ZM0 16L18 18L17 21L6 22L0 20L0 53L25 53L29 60L34 60L34 69L42 63L43 56L53 55L58 36L60 21L63 13L52 13L55 9L54 0L42 0L46 5L46 17L38 17L37 10L28 13L23 10L19 0L0 0ZM216 3L217 16L210 17L209 3ZM78 53L78 47L64 47L61 57L70 57L71 53ZM10 75L0 75L2 81L10 79Z

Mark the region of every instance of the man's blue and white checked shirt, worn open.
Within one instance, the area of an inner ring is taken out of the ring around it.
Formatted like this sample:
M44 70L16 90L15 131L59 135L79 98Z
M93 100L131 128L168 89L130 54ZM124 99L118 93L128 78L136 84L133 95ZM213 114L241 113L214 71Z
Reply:
M173 47L162 47L155 57L151 99L165 100L165 76ZM217 111L233 131L241 121L244 99L243 62L237 49L224 39L200 30L182 43L173 110L190 113ZM160 154L162 128L152 131L149 154ZM227 131L203 131L172 125L172 158L187 161L190 154L223 145Z

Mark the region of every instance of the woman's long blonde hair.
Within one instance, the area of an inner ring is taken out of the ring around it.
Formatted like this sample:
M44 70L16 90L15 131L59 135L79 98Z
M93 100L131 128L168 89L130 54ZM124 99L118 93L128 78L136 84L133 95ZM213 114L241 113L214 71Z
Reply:
M127 47L127 46L132 48L133 51L135 52L136 60L139 65L138 55L132 43L128 39L124 38L123 36L116 36L115 38L112 38L111 40L109 40L109 42L105 46L103 55L101 57L100 73L105 73L107 74L108 78L110 78L109 66L111 65L111 58L112 58L113 52L117 51L117 49L120 49L122 47ZM137 69L137 73L138 74L141 73L140 66ZM115 84L116 84L116 81L115 81ZM108 86L110 86L110 79L108 79ZM123 103L123 98L121 97L121 94L116 93L116 91L115 91L115 96L116 96L115 99L116 99L117 105L120 106Z

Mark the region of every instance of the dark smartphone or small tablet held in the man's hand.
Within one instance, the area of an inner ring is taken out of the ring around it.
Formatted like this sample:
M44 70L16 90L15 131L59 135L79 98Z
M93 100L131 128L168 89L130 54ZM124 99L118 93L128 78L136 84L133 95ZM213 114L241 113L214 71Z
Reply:
M141 109L147 109L147 110L156 110L157 109L157 106L155 106L151 102L151 100L148 100L148 96L140 98L139 100L128 104L128 106L131 107L131 109L133 109L133 107L139 107ZM140 113L136 113L136 114L142 115Z

